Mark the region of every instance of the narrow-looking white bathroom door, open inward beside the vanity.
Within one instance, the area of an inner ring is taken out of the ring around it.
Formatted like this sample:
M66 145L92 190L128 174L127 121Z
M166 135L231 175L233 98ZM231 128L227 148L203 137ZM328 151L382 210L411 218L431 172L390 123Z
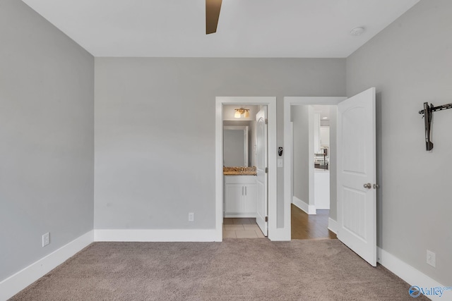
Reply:
M257 213L256 223L263 235L268 235L267 225L267 108L266 106L256 114L256 171L257 171Z

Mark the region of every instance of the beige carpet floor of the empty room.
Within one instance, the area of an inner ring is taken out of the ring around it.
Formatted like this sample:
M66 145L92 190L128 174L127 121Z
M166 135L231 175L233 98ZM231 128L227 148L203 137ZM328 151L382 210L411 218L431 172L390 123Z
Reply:
M11 300L412 300L408 288L339 240L94 242Z

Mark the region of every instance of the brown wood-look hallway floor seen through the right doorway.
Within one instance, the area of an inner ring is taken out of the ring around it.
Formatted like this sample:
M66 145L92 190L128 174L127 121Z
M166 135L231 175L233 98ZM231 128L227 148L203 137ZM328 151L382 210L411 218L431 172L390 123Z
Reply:
M292 240L337 238L335 233L328 230L329 212L329 210L317 210L316 215L309 215L292 204Z

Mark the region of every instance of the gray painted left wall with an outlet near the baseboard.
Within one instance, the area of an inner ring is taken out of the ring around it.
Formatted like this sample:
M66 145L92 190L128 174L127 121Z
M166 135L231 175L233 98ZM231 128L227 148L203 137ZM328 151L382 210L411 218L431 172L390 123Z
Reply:
M93 229L94 59L17 0L0 41L1 281Z

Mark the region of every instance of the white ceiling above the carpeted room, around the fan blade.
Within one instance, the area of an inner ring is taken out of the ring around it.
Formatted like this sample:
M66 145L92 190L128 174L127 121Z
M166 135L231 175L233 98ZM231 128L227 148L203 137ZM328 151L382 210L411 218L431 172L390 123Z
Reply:
M23 0L93 56L344 58L419 0ZM353 27L364 34L350 35Z

